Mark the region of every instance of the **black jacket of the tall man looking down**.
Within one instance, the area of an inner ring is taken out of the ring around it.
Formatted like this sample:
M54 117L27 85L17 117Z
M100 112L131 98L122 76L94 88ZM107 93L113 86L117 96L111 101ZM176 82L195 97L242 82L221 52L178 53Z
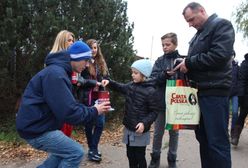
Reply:
M199 96L229 95L234 39L231 22L213 14L190 41L185 64L189 78L197 83Z

